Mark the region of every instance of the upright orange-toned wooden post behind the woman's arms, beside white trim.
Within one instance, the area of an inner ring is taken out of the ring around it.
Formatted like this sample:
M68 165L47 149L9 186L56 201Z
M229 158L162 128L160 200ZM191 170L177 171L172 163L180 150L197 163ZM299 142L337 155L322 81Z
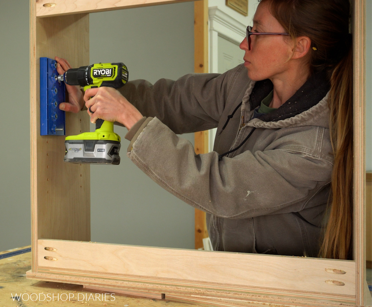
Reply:
M208 72L208 0L194 2L194 72ZM195 153L207 153L208 131L196 132ZM208 237L205 212L195 209L195 249L203 247L203 239Z

